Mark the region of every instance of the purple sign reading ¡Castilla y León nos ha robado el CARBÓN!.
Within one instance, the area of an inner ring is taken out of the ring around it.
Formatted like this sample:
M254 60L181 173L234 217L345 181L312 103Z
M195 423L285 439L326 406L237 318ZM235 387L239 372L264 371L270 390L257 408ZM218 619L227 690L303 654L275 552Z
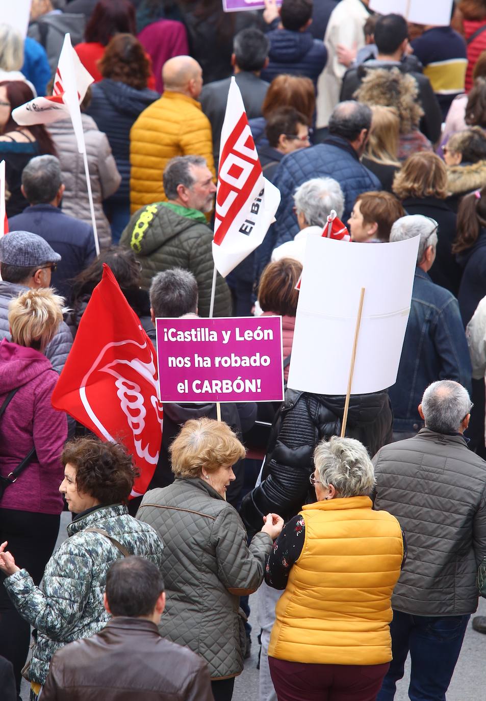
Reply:
M157 319L162 402L282 402L282 317Z

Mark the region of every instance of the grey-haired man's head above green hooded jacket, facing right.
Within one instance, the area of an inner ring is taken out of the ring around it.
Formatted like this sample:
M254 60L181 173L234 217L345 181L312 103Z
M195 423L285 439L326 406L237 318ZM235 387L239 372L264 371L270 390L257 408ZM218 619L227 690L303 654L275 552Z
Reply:
M202 156L176 156L167 163L163 176L167 199L182 207L211 212L216 185Z

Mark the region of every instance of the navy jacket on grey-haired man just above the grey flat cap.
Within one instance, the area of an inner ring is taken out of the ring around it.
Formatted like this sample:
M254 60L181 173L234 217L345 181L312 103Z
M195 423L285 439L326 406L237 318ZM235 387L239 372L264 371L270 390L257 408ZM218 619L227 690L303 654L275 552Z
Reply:
M92 226L65 215L53 205L33 205L22 214L8 219L8 229L32 231L42 236L60 254L61 260L51 284L70 303L71 285L68 280L81 273L96 256Z

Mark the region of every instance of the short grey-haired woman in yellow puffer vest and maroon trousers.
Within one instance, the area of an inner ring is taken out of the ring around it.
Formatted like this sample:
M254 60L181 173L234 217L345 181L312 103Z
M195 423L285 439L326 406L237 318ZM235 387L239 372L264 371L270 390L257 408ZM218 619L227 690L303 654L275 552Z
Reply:
M284 593L268 661L278 701L374 701L391 660L391 594L400 576L400 524L373 511L366 448L323 440L303 506L272 548L265 582Z

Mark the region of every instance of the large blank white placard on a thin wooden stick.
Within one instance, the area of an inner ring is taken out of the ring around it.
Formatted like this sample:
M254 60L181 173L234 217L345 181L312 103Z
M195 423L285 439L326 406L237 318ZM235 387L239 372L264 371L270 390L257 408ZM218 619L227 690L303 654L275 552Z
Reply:
M361 287L365 288L352 394L396 382L419 237L397 243L307 238L288 386L347 391Z

